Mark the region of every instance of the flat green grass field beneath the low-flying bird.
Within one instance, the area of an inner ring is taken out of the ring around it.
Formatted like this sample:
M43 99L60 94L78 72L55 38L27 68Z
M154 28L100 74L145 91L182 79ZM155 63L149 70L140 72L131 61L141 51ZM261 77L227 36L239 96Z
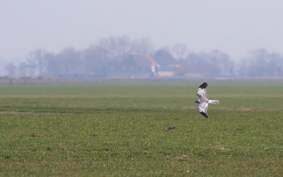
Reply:
M0 176L283 176L283 80L207 81L209 119L202 82L0 83Z

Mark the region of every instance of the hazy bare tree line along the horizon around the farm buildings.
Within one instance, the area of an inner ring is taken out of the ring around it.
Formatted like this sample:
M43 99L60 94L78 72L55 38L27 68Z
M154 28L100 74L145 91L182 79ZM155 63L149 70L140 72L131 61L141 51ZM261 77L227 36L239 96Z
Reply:
M125 62L133 53L152 56L160 69L180 66L176 76L211 77L282 77L283 58L280 53L259 49L236 62L225 52L195 53L185 44L154 49L148 39L130 40L127 36L107 37L84 50L63 49L59 53L37 49L26 61L6 66L10 77L71 78L107 77L109 65Z

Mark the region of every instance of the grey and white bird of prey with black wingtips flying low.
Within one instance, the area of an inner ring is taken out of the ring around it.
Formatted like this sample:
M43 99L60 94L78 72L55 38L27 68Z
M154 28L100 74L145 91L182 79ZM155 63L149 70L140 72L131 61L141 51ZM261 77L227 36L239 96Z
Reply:
M201 115L203 115L204 117L208 118L207 116L207 109L208 109L208 103L211 104L219 104L218 100L209 100L208 99L208 95L206 93L206 87L207 87L207 83L204 82L203 84L201 84L197 90L197 96L199 96L199 99L197 99L195 101L195 103L198 103L199 105L197 106L197 108L199 109L199 113L201 113Z

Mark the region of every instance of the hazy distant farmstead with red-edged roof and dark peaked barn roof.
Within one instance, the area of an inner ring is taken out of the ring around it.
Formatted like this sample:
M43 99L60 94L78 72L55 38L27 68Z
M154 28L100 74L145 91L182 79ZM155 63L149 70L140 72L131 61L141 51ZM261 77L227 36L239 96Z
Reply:
M153 57L130 54L119 62L110 62L106 70L107 78L174 77L187 72L166 50L158 50Z

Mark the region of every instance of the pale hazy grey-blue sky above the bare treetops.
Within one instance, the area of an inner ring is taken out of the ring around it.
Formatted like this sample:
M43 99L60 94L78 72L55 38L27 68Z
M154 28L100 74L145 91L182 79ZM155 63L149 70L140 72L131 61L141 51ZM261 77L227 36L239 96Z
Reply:
M219 49L235 59L257 48L283 53L282 7L280 0L1 0L0 64L38 48L84 49L111 35L146 37L156 48Z

